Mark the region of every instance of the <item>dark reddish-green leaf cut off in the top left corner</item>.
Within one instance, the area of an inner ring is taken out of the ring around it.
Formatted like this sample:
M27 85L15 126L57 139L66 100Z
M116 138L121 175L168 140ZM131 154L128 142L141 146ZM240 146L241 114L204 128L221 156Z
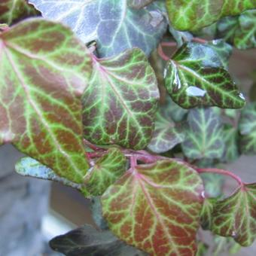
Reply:
M26 0L1 0L0 2L0 23L12 25L26 17L34 17L39 14Z

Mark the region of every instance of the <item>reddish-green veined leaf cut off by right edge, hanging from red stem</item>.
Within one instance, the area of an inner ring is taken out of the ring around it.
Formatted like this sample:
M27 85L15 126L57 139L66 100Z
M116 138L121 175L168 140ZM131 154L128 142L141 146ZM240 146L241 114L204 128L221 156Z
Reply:
M242 246L256 238L256 184L245 184L231 196L215 203L212 231L232 236Z

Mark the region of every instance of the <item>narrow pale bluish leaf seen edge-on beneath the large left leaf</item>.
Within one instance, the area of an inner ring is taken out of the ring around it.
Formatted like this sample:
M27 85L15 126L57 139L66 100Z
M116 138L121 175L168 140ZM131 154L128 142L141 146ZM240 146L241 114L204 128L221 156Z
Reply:
M15 170L18 174L23 176L29 176L33 178L41 178L49 181L57 181L69 187L74 187L77 190L81 190L84 195L88 194L83 184L77 184L69 181L66 178L59 177L53 172L52 169L42 165L37 160L31 157L23 157L15 165Z

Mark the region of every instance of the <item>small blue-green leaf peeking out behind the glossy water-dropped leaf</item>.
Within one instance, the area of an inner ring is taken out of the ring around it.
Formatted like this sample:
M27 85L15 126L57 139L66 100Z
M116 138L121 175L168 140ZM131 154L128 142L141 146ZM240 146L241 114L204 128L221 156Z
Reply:
M209 41L207 45L212 47L212 49L218 53L219 59L221 60L221 65L227 70L229 59L233 50L232 46L227 44L223 39Z

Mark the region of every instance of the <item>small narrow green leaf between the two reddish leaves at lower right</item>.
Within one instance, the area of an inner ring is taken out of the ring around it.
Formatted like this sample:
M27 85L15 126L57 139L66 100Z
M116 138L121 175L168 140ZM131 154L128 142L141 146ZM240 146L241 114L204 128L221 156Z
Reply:
M216 198L206 198L204 200L200 215L201 227L203 227L204 230L210 230L212 227L212 212L216 201Z

